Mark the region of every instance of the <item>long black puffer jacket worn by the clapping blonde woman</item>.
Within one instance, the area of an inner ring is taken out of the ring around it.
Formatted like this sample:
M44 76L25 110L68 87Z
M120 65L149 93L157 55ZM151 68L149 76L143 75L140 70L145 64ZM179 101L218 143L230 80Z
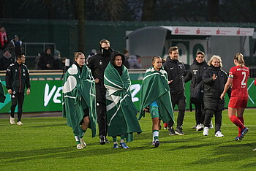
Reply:
M213 75L217 76L216 80L212 79ZM203 104L208 110L224 110L225 100L220 99L225 83L227 82L227 73L220 67L209 66L203 73Z

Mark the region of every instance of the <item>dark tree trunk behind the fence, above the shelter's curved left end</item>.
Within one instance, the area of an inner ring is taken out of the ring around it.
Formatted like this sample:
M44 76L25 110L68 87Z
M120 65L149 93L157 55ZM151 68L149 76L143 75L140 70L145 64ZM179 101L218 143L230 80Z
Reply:
M154 6L157 0L143 0L143 12L141 20L152 20L154 15Z

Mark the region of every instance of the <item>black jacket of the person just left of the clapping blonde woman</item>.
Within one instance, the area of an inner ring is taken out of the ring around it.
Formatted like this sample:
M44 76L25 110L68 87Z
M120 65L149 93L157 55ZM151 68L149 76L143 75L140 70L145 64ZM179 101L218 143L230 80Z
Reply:
M203 76L203 72L205 72L207 68L208 68L208 65L206 64L206 61L203 61L202 63L198 63L197 60L194 60L193 64L189 67L189 71L187 72L187 75L185 77L185 83L191 80L190 99L194 98L199 100L200 102L203 102L203 96L201 97L200 94L197 94L196 92L203 91L203 89L201 89L203 88L202 76Z

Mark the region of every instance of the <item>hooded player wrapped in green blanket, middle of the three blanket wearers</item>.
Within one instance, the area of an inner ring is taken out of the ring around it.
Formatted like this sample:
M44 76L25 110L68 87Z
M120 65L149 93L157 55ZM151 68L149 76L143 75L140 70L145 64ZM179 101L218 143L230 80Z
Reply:
M124 142L133 140L133 132L140 134L140 124L136 114L138 110L132 103L131 80L128 69L124 66L124 55L113 51L110 63L104 72L106 105L108 118L108 136L113 137L113 148L118 148L117 136L121 136L120 147L129 148Z

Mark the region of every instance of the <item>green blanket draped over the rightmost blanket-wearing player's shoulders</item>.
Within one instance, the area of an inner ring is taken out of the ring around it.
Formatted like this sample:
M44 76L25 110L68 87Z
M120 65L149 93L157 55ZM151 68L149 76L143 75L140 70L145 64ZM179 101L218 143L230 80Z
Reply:
M167 121L172 121L174 123L170 88L167 83L167 72L163 69L156 71L151 67L146 70L140 88L139 120L140 118L145 117L145 111L143 109L148 107L154 101L157 101L159 107L159 119L164 123Z

